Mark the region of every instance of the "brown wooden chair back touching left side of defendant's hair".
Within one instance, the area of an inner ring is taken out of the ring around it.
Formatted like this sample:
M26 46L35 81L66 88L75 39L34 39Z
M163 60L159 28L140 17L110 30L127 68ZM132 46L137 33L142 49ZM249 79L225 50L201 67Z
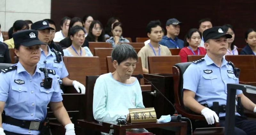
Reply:
M101 74L106 74L107 72L107 56L111 56L113 48L94 48L95 56L100 58L100 71Z

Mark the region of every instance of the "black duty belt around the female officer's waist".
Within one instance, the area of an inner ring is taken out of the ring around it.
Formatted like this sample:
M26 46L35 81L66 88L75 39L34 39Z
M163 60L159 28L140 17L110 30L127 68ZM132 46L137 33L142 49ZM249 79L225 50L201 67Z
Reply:
M38 121L20 120L20 119L15 119L10 116L4 116L3 123L18 126L21 128L30 129L30 130L41 130L41 128L43 126L43 123L38 122Z

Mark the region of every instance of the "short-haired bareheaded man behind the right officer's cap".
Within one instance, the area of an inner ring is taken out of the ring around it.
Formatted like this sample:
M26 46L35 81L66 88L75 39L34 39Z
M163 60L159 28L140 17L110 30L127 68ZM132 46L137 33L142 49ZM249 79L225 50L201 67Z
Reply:
M208 28L212 28L212 22L210 18L204 18L198 21L199 28L198 30L203 34L204 30ZM201 43L199 45L200 47L204 47L204 38L202 38Z

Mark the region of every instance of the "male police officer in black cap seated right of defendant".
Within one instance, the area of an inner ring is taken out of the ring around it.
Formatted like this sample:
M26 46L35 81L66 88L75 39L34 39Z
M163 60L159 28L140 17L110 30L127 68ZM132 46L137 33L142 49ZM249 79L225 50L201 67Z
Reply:
M214 120L225 125L225 105L227 101L227 83L239 83L234 74L232 64L223 59L228 49L227 38L223 27L213 27L203 32L204 46L207 51L205 57L194 61L183 75L184 105L192 111L204 115L208 124ZM244 96L241 90L236 91L241 97L242 105L256 112L256 105ZM212 110L213 104L219 103L218 114ZM236 102L237 105L237 102ZM236 134L256 134L256 122L247 120L236 112Z

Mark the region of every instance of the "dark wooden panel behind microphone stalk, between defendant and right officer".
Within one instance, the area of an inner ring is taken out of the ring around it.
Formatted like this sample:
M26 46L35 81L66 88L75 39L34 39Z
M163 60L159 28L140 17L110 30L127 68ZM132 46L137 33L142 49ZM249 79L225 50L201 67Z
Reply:
M144 77L153 83L156 88L174 104L172 74L144 74ZM153 107L156 110L157 119L159 119L161 115L174 114L173 107L158 92L153 99Z

